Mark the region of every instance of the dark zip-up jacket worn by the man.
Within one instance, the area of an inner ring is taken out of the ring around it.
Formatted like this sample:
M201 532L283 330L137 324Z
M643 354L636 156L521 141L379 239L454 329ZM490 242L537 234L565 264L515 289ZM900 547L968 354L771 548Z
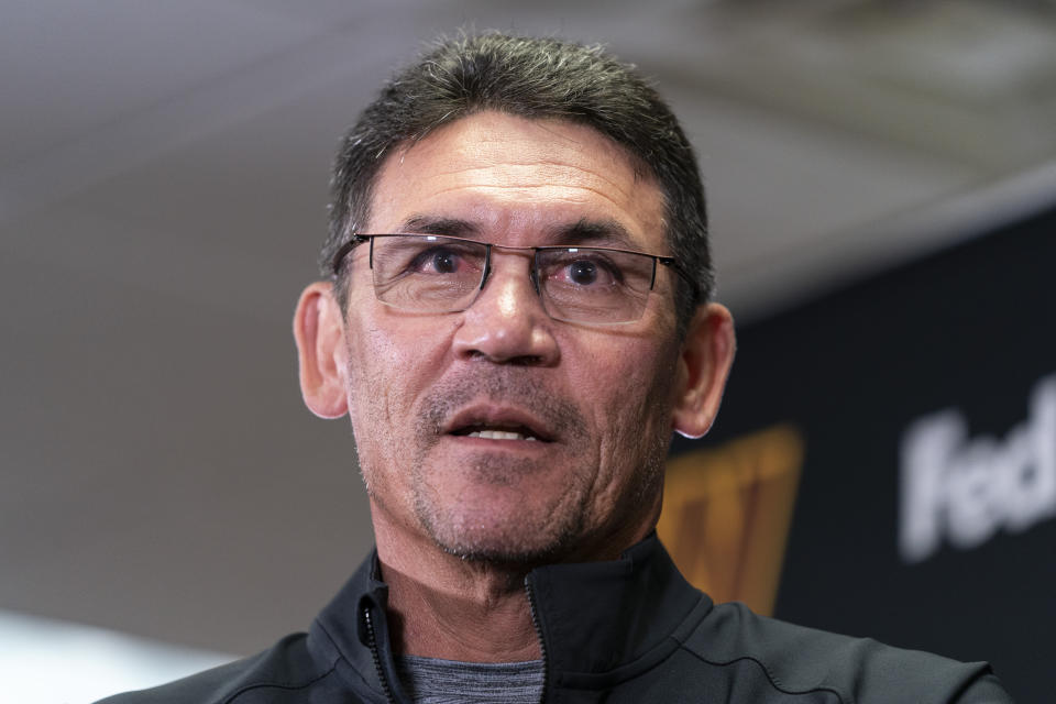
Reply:
M387 588L372 557L307 635L103 702L406 702L388 645ZM716 606L685 582L654 536L613 562L537 569L527 588L546 660L547 704L1011 702L986 663L801 628L740 604Z

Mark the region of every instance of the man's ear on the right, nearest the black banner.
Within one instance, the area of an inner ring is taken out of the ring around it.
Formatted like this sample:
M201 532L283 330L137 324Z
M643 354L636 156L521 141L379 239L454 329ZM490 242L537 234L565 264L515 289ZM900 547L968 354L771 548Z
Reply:
M680 387L672 425L680 435L700 438L712 427L736 346L734 318L725 306L707 304L696 309L679 359Z

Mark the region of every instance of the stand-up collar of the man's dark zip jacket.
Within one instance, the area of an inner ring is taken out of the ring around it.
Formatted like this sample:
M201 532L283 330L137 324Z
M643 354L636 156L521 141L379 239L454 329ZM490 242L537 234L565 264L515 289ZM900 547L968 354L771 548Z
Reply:
M317 657L337 661L339 671L348 669L360 689L366 684L377 695L384 689L381 669L398 701L385 618L388 587L380 574L375 551L320 613L309 645ZM550 686L610 684L652 667L712 608L712 601L682 578L656 534L618 560L537 568L526 586Z

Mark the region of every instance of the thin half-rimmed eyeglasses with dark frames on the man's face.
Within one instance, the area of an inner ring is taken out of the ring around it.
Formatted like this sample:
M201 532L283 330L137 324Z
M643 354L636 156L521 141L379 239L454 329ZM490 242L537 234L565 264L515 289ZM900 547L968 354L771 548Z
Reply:
M671 256L598 246L507 246L435 234L354 234L333 257L334 276L349 252L371 243L374 294L399 310L459 312L473 305L492 272L492 250L531 252L531 283L556 320L612 324L641 318L657 264L696 290Z

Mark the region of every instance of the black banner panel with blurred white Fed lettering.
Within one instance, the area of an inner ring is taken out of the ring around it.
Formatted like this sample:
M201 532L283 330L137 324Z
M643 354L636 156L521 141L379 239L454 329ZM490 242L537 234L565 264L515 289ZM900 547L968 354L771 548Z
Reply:
M987 659L1018 701L1050 698L1054 272L1056 208L739 330L718 422L675 442L672 477L680 453L796 433L778 617Z

